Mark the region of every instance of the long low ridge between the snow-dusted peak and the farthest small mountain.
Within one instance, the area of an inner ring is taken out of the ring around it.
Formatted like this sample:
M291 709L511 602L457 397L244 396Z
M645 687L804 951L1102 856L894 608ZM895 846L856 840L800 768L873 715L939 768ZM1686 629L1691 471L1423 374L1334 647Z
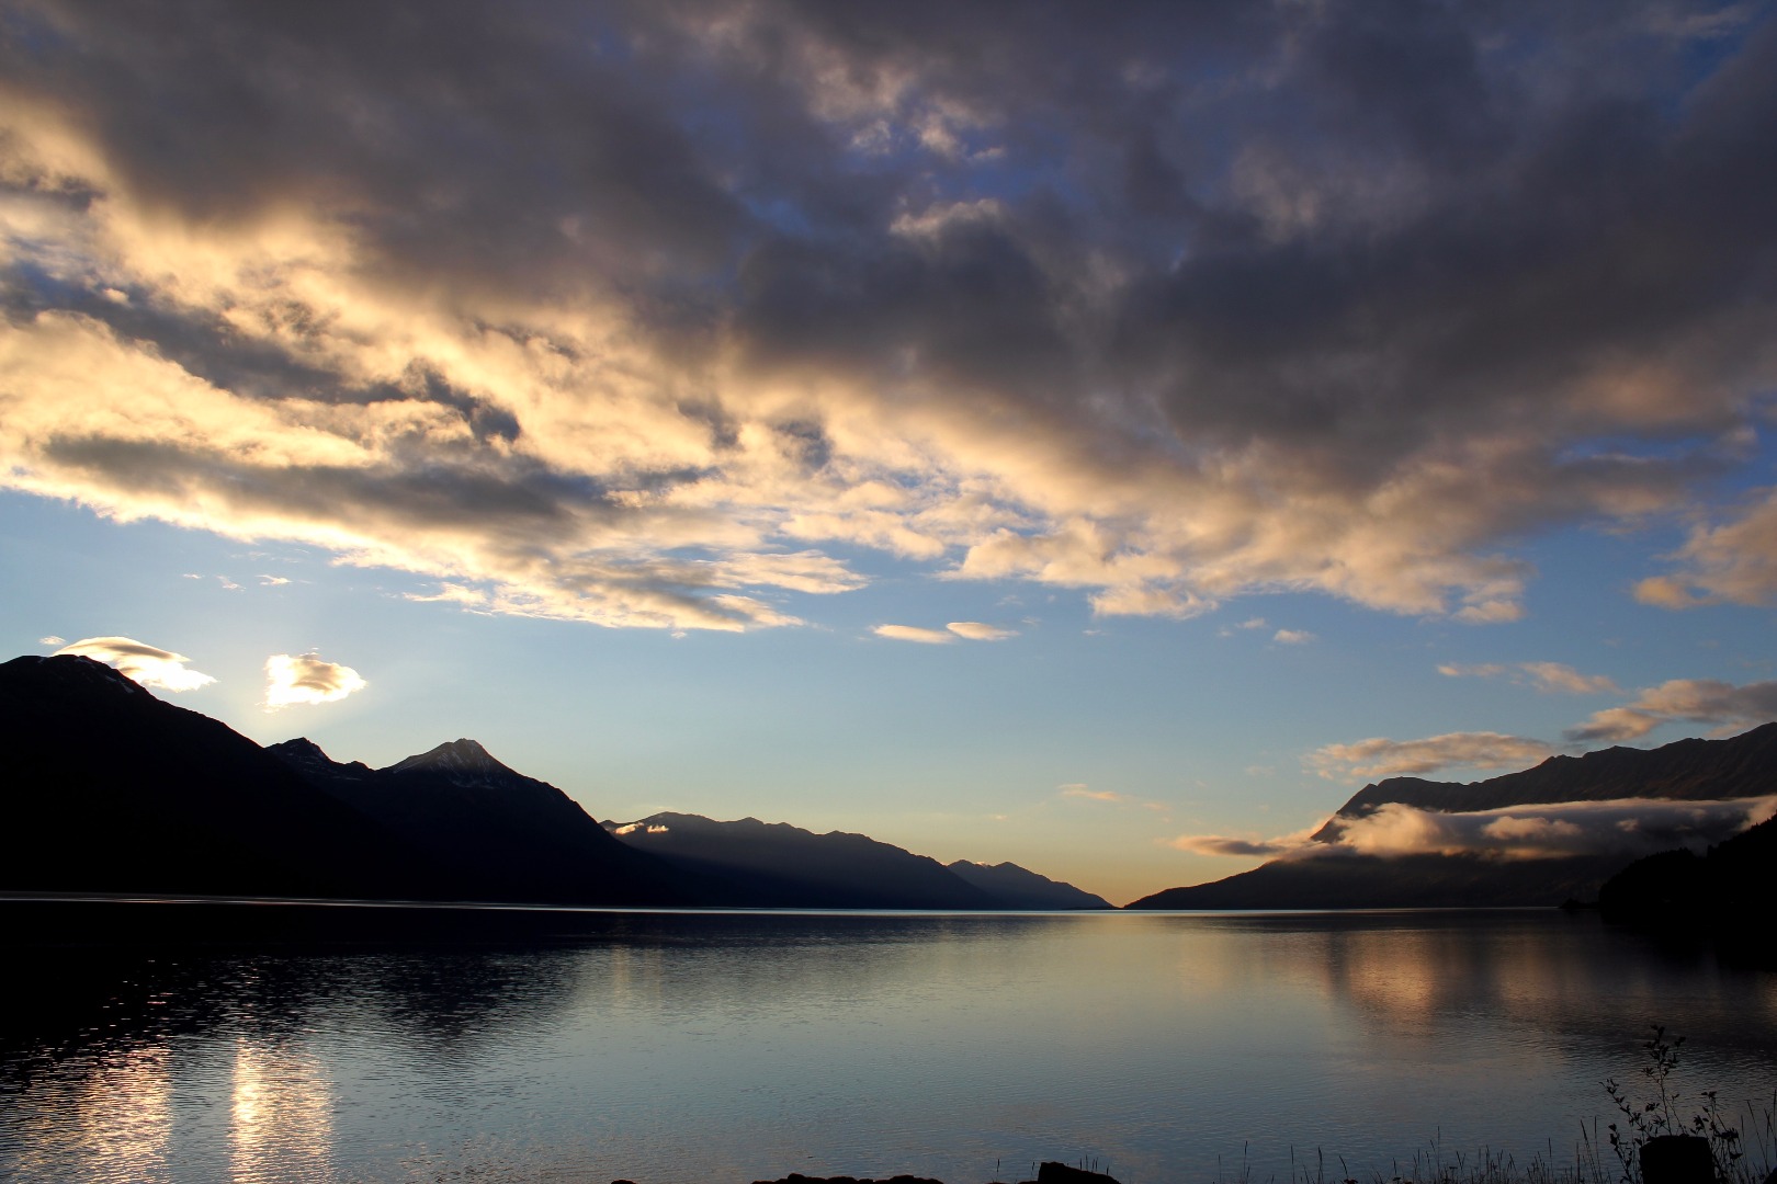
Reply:
M1004 909L936 859L864 834L787 822L659 813L606 824L636 850L702 877L720 902L753 909Z

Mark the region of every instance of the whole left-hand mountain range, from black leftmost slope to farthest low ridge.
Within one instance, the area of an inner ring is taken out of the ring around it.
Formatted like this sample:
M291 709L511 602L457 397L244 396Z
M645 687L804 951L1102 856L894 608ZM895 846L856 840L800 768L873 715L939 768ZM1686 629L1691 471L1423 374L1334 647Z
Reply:
M695 815L606 827L467 738L387 769L336 762L306 738L259 747L85 657L0 664L0 746L4 891L1111 907L1015 864L944 868L862 834Z

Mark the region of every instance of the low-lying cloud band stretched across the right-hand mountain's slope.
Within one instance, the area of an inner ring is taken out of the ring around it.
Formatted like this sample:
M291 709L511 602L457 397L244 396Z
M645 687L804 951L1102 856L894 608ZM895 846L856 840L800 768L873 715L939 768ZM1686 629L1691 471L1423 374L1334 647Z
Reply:
M1335 818L1331 841L1317 841L1313 831L1301 831L1274 840L1183 834L1171 840L1171 845L1199 856L1283 859L1335 856L1548 859L1651 854L1674 847L1701 849L1708 843L1718 843L1773 813L1777 813L1777 795L1709 802L1661 799L1557 802L1471 813L1439 813L1402 802L1386 802L1363 818Z

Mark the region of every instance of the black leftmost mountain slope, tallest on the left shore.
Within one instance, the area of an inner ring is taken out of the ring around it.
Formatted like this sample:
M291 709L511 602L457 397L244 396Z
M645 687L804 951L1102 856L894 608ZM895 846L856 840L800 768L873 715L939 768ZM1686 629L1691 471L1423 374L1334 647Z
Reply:
M0 666L0 886L434 896L450 875L222 722L92 659Z

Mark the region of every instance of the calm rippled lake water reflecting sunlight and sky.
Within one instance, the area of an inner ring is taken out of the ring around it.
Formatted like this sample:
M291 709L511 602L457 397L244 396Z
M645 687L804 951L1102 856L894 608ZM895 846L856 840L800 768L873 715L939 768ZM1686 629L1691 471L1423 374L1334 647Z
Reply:
M128 907L128 905L121 905ZM142 907L142 905L137 905ZM20 959L0 1179L1125 1184L1571 1163L1649 1022L1768 1108L1777 975L1592 916L602 914L569 941Z

